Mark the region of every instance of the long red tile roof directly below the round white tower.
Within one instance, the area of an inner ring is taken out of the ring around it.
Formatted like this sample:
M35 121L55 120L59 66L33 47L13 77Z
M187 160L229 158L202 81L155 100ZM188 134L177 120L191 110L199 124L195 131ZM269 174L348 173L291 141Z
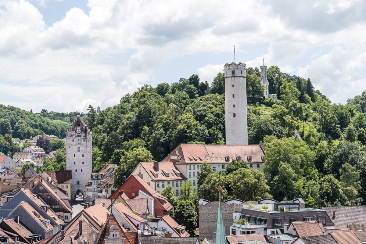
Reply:
M264 152L259 145L203 145L203 144L179 144L162 161L172 161L175 164L197 164L206 161L208 163L228 163L232 159L241 157L248 162L252 157L253 163L263 162ZM229 157L229 161L225 160Z

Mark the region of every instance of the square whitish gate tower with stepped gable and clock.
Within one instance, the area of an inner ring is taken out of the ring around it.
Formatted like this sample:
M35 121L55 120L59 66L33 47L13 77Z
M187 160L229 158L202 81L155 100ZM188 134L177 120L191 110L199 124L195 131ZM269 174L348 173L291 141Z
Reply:
M66 169L71 170L71 200L82 191L91 176L91 132L80 115L66 132Z

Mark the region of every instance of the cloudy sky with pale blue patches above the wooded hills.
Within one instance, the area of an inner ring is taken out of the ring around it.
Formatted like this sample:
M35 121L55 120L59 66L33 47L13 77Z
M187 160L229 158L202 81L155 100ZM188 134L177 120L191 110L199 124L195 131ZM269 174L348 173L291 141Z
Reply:
M142 85L277 65L333 103L366 90L365 0L0 0L0 104L101 109Z

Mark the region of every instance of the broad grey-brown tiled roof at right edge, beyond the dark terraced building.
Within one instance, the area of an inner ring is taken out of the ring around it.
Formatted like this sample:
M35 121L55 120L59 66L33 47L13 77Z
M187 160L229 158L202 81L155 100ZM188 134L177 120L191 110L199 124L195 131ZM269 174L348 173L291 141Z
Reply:
M342 206L342 207L322 207L326 211L334 226L348 228L348 224L366 224L366 206ZM333 211L336 217L333 218Z

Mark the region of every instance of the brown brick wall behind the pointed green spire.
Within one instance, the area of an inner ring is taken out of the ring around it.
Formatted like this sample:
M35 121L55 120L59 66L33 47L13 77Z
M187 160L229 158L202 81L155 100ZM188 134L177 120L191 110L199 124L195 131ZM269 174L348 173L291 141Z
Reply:
M232 213L241 212L243 209L243 203L230 205L221 203L224 215L224 225L226 235L230 235L230 225L232 225ZM199 219L199 240L212 239L216 237L217 226L217 209L219 208L219 202L209 202L205 205L198 204L198 219Z

